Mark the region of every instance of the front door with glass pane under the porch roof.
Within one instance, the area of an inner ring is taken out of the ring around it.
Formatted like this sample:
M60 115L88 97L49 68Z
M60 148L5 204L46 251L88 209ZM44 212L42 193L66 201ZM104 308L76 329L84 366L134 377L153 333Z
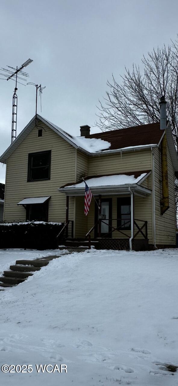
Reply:
M98 203L98 200L96 200ZM103 221L101 221L101 237L112 237L112 234L110 233L107 235L108 232L111 232L111 225L112 225L112 198L102 198L101 200L101 214L103 215ZM95 203L95 224L97 220L99 219L99 210ZM109 226L110 225L110 226ZM98 237L98 230L99 226L95 229L94 237Z

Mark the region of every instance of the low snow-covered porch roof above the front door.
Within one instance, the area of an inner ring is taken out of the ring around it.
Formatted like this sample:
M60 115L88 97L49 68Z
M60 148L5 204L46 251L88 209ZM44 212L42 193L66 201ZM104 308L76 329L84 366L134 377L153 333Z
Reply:
M151 190L141 186L141 183L148 177L151 170L132 171L120 174L107 174L105 176L88 176L85 181L91 188L93 195L120 195L134 191L137 195L146 196ZM84 196L85 183L83 180L77 183L69 183L58 189L67 196Z

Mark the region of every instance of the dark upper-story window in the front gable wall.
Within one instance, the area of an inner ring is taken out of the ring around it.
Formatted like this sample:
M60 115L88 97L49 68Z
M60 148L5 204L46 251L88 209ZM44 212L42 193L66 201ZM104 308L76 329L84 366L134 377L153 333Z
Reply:
M29 154L27 181L50 179L51 150Z

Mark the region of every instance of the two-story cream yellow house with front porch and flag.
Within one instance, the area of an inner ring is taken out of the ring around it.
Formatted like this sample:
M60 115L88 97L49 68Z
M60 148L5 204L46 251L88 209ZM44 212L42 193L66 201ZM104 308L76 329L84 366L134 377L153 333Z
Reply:
M166 102L160 122L74 137L40 115L0 157L7 165L4 220L64 221L66 237L99 247L175 247L178 157ZM84 215L85 179L92 191Z

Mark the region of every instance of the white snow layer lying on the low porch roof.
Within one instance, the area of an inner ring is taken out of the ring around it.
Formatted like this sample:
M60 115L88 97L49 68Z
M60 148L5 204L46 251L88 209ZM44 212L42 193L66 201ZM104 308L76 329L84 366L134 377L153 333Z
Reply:
M120 174L109 174L106 176L88 176L85 178L85 181L91 191L95 191L96 189L104 189L104 188L121 188L136 184L141 184L141 182L148 177L151 173L150 170L145 171L132 171L127 173ZM84 192L85 183L80 180L76 184L66 184L61 186L58 190L60 192L64 192L67 194L68 191L72 193L72 191L83 191Z

